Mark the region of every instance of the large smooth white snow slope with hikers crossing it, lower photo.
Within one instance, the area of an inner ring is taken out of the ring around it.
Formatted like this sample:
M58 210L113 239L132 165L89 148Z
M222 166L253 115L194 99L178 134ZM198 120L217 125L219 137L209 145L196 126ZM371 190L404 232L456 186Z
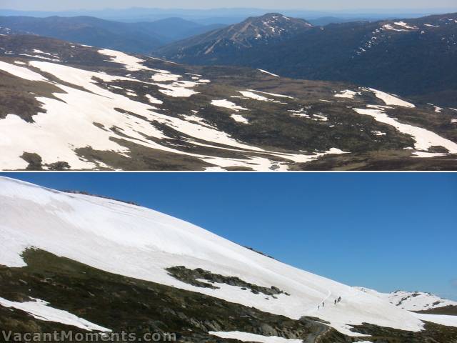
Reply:
M35 247L106 272L208 294L292 319L319 317L346 334L355 335L349 331L350 325L363 322L415 332L423 327L411 313L375 295L288 266L151 209L7 178L0 178L0 205L0 264L8 267L23 267L21 253ZM165 270L176 266L239 277L290 295L266 297L229 284L216 284L219 289L195 287ZM337 297L342 301L335 306Z

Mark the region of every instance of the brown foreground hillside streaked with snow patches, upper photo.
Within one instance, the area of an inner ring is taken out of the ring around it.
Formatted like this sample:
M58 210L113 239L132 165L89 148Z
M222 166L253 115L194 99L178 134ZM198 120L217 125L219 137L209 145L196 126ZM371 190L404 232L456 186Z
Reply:
M456 111L349 84L11 35L0 87L2 170L457 169Z

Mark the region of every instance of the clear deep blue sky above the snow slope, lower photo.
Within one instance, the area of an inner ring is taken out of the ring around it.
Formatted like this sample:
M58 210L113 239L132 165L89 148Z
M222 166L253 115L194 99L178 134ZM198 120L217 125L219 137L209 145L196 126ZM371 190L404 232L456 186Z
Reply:
M104 194L354 286L457 300L457 174L0 174Z

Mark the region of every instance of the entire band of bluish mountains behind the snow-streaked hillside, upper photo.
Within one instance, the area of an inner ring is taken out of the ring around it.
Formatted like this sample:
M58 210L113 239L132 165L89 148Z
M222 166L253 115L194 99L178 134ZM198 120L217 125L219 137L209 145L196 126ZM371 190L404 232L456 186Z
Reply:
M0 32L49 36L184 64L248 66L295 79L345 81L418 104L457 108L457 14L344 21L321 17L311 23L266 14L226 26L178 17L120 22L91 16L3 16Z

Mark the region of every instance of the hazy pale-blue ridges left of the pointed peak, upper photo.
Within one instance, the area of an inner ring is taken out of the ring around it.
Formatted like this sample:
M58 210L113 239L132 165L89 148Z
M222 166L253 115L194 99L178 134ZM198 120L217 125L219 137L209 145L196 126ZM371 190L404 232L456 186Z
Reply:
M172 41L224 27L223 24L196 24L181 18L124 23L91 16L1 16L0 26L15 32L141 54L151 54L159 46Z

